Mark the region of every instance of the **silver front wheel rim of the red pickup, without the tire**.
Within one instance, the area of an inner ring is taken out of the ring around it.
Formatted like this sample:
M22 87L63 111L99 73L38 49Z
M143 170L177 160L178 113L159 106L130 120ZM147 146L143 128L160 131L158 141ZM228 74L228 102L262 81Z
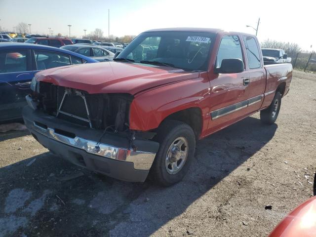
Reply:
M176 174L182 169L188 158L188 151L188 141L184 137L178 137L171 143L165 160L165 167L169 174Z

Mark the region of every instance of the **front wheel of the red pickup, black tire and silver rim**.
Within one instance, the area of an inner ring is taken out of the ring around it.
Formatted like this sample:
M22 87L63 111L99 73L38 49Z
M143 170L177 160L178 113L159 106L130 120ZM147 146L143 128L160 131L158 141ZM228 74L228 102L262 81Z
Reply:
M184 122L167 120L159 126L155 140L160 146L150 178L158 185L171 186L182 180L189 169L196 147L194 132Z

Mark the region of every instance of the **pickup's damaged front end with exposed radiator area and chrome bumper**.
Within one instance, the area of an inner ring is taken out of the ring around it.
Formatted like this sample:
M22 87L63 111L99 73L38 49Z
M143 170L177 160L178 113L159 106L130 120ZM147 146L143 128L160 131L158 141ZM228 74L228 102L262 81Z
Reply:
M43 81L34 90L27 96L29 107L24 108L23 118L43 146L77 165L121 180L146 179L159 144L150 140L154 133L129 129L132 95L89 94ZM114 160L119 162L110 162Z

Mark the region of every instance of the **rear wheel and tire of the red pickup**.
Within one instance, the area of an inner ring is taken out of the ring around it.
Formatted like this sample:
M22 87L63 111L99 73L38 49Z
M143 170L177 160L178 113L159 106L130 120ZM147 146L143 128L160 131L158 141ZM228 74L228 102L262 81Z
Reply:
M267 109L260 111L260 119L262 123L269 125L275 123L281 107L281 97L281 93L276 91L271 105Z

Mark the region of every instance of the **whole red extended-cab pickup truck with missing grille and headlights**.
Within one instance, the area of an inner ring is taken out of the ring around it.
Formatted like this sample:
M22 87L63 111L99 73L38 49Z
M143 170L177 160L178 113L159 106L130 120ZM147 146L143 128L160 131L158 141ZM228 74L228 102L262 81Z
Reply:
M292 78L256 37L218 29L146 31L116 56L37 73L23 117L52 153L132 182L172 185L196 140L258 111L274 123Z

